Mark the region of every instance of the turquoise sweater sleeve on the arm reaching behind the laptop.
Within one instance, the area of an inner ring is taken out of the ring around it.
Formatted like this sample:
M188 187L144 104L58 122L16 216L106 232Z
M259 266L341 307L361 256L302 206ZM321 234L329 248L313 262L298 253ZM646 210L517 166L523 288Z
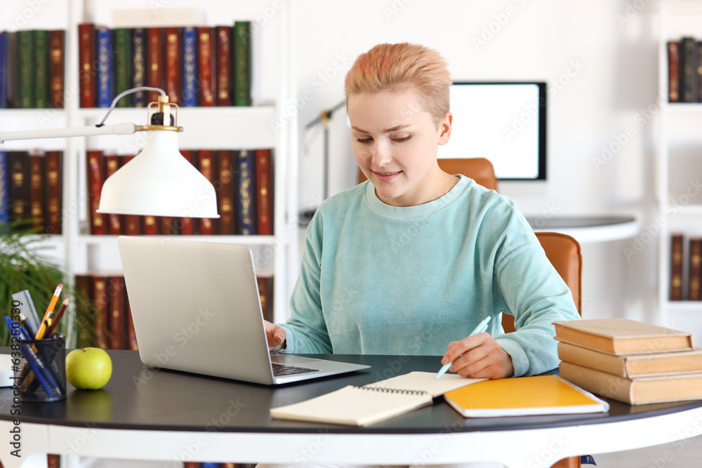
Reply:
M287 333L284 353L331 354L331 340L322 312L322 214L318 210L305 236L300 276L290 300L290 318L278 325Z

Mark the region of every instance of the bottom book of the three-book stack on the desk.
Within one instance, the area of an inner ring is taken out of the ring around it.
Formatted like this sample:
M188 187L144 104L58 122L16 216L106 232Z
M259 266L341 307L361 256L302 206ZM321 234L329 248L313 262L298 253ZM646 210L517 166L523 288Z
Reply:
M702 373L631 379L568 362L559 368L561 377L578 387L630 405L702 399Z

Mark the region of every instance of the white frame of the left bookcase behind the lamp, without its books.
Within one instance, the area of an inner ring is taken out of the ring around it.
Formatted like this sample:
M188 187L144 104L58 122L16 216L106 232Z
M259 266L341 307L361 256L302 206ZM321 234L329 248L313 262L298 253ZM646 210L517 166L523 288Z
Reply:
M178 135L180 149L258 149L270 148L273 154L274 232L268 236L178 236L178 239L243 243L251 247L256 267L274 276L274 319L284 321L288 315L289 291L298 272L297 227L297 120L296 114L283 112L292 105L295 86L291 73L291 37L289 12L282 4L272 17L258 24L256 18L269 2L255 0L169 0L144 2L121 0L57 0L40 2L31 18L24 18L26 2L12 0L4 6L7 18L23 18L18 29L65 30L65 108L0 109L0 126L4 130L89 126L105 115L104 108L81 108L79 104L78 25L92 22L107 27L130 27L124 21L142 27L234 25L236 20L250 20L256 29L251 34L251 107L180 107ZM125 13L140 10L143 14ZM131 18L131 19L130 19ZM133 19L137 18L137 19ZM14 20L13 20L14 21ZM173 22L171 22L173 21ZM12 23L12 22L11 22ZM8 24L11 24L8 23ZM275 126L285 114L283 125ZM147 109L117 108L106 123L146 123ZM44 149L63 152L63 230L50 236L48 256L56 260L69 277L95 270L121 269L117 236L93 236L88 225L86 151L101 150L111 154L134 154L140 148L136 133L127 136L60 138L7 142L3 149ZM72 317L70 318L72 319ZM74 337L69 336L69 340Z

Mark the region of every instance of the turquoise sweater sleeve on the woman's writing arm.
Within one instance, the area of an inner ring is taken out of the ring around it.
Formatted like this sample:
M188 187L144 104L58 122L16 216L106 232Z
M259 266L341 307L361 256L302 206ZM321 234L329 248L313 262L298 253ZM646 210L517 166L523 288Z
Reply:
M517 331L495 337L512 357L515 377L556 368L559 359L552 322L578 320L580 314L571 290L516 210L498 246L494 278L496 295L515 316Z

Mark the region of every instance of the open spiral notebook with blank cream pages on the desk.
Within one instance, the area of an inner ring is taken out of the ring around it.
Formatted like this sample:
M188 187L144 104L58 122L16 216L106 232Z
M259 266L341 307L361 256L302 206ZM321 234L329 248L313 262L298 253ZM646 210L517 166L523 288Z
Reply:
M348 385L301 403L272 408L270 414L278 419L367 426L409 413L431 404L435 396L484 380L455 374L439 380L435 377L436 373L411 372L363 387Z

